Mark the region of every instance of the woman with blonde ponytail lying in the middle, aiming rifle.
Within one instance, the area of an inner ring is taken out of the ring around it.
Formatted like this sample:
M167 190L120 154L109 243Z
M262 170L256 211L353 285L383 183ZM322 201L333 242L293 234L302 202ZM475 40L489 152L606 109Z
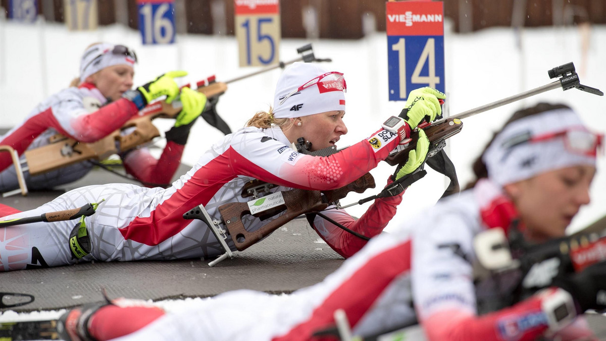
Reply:
M69 191L39 208L4 217L5 220L39 216L100 202L95 214L84 219L92 251L82 260L142 260L211 258L224 253L221 244L202 220L186 220L183 214L203 205L211 220L221 221L219 206L248 202L242 188L253 179L277 185L270 192L290 188L332 190L344 187L388 157L399 144L410 142L410 130L420 122L433 121L441 113L439 98L444 94L431 88L411 92L407 117L399 119L393 131L379 128L351 147L318 157L291 148L300 137L311 150L334 146L347 133L345 79L342 73L327 72L318 65L295 63L281 75L276 86L273 110L257 113L248 127L228 134L204 153L187 174L170 188L142 188L132 184L88 186ZM126 103L130 104L130 102ZM414 171L425 160L428 139L420 133L418 147L410 151L406 164L396 170L395 179ZM381 141L371 144L368 141ZM101 200L104 200L101 202ZM381 233L396 213L402 194L375 200L367 212L355 220L334 206L325 216L367 237ZM278 216L261 220L242 218L247 231L256 231ZM359 239L333 223L316 216L313 228L331 248L344 257L361 249ZM78 262L68 240L73 222L30 223L0 228L0 236L10 236L0 244L0 271L34 267L56 267ZM236 250L233 240L228 247Z

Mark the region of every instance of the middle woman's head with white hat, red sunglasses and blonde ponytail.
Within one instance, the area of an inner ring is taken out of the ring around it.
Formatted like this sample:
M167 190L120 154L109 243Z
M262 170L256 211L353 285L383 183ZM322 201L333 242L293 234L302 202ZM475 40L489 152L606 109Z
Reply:
M248 126L268 128L276 124L290 142L299 137L311 142L311 150L331 147L347 134L345 78L317 64L295 62L278 79L273 107L259 112Z

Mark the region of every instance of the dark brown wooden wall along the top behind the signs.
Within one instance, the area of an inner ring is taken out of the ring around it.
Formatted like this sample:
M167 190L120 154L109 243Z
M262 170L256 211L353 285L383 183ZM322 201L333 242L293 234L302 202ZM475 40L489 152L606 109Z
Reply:
M99 25L120 22L138 29L136 0L98 3ZM7 4L8 0L0 0L5 13ZM38 0L38 7L47 21L64 21L63 0ZM233 35L233 0L175 0L175 12L179 33ZM316 25L306 28L304 16L313 13ZM462 33L493 26L606 24L606 1L448 0L444 1L444 15ZM385 1L282 0L281 18L283 38L358 39L368 30L385 31Z

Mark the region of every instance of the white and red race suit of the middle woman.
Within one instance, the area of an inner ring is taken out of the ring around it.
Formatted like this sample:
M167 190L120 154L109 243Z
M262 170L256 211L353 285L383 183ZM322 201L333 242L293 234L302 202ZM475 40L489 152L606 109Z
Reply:
M85 218L93 247L84 260L215 257L224 252L215 235L201 220L184 219L184 213L203 205L213 220L221 221L220 205L250 200L241 193L242 187L252 179L278 185L271 192L293 187L305 190L343 187L375 168L399 142L396 134L386 130L377 131L369 139L377 138L383 143L371 145L363 140L330 156L316 157L288 147L290 142L279 127L243 128L213 145L170 188L142 188L130 184L82 187L62 194L36 210L5 219L99 202L96 213ZM376 200L358 220L333 208L324 213L342 225L372 237L381 233L401 200L401 195ZM256 217L244 216L242 221L248 231L255 231L275 217L262 222ZM365 244L365 240L325 222L322 217L316 217L315 222L318 234L342 256L351 256ZM73 224L72 221L30 223L0 228L0 269L75 263L68 248ZM228 245L236 250L231 239L228 239Z

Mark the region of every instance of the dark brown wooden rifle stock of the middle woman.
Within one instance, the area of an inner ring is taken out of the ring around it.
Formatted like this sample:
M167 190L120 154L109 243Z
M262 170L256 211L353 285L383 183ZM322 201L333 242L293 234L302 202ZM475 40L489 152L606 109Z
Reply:
M242 217L250 214L247 203L233 202L221 205L219 206L219 213L221 213L225 227L236 248L238 248L238 251L243 251L301 214L324 210L330 202L344 198L350 191L362 193L367 188L375 188L375 179L370 173L366 173L351 184L336 190L309 191L295 188L285 191L282 193L282 197L284 197L286 212L253 232L247 231L244 228L244 223L242 223ZM322 195L324 195L324 199L322 199ZM279 211L275 212L275 214L277 213Z

